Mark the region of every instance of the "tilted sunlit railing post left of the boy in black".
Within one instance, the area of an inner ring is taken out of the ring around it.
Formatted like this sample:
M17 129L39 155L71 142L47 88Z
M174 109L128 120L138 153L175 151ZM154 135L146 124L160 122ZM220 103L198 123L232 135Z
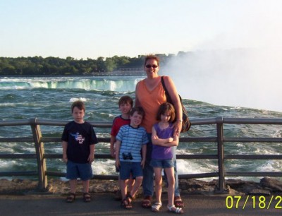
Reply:
M35 151L37 156L37 169L38 169L38 187L39 189L47 188L47 175L46 175L46 160L44 159L44 143L42 143L42 134L39 125L36 123L37 118L30 119L30 126L32 129L33 140L35 141Z

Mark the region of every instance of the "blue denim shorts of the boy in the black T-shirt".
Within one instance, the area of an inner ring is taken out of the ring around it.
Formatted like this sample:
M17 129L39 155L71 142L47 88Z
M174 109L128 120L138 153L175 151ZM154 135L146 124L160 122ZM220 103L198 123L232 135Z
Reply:
M93 177L91 164L79 164L68 160L66 164L67 179L81 179L82 181L90 180Z

